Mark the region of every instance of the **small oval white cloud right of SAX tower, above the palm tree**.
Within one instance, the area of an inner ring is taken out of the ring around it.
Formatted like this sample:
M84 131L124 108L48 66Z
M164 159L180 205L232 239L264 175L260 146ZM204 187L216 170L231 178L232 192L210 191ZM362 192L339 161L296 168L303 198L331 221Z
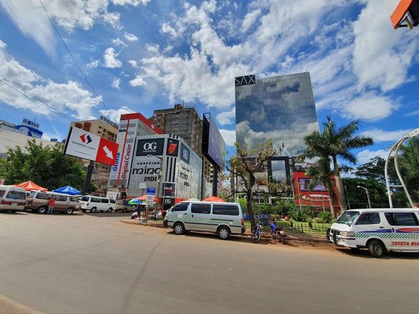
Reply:
M342 115L348 118L376 121L390 116L397 107L396 104L392 104L390 98L369 92L349 101Z

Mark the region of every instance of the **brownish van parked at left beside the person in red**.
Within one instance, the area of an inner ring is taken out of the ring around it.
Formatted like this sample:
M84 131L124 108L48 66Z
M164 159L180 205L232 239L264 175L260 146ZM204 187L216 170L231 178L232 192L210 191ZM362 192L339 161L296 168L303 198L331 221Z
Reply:
M27 198L26 209L36 211L39 214L45 214L48 210L48 202L50 198L54 197L54 211L65 212L66 214L73 214L74 211L80 211L80 202L77 197L55 193L33 191L31 196Z

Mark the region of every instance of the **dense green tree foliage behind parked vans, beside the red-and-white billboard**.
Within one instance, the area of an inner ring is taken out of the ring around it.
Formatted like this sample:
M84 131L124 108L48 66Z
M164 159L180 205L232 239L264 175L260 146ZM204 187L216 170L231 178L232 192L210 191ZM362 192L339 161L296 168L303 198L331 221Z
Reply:
M30 180L48 190L66 185L82 190L86 178L83 165L77 158L65 156L63 150L60 144L43 146L34 140L28 142L24 151L20 147L9 149L0 163L1 177L6 184ZM94 184L92 187L95 188Z

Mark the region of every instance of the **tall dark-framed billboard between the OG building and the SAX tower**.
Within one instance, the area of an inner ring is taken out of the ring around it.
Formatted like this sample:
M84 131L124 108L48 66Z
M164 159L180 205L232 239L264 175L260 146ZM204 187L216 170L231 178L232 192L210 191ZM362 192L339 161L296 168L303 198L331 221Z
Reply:
M223 167L223 153L226 151L226 143L216 127L214 119L210 114L203 117L203 154L210 159L213 164Z

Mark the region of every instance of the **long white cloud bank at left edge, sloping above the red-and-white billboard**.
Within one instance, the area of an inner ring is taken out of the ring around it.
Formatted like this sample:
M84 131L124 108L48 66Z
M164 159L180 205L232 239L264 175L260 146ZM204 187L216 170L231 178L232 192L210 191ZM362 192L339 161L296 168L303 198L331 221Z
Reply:
M92 117L93 108L101 102L101 97L93 97L90 91L83 89L78 82L54 82L25 68L6 53L6 44L1 40L0 77L7 77L10 85L46 105L22 96L5 84L0 84L0 101L18 109L31 110L36 114L49 116L54 114L54 110L68 115L69 118L89 119Z

